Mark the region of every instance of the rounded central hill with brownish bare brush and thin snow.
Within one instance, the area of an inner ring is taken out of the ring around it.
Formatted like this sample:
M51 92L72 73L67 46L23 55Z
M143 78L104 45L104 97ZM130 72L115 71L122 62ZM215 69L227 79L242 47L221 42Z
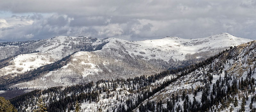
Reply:
M70 57L68 64L60 69L50 71L39 79L15 84L12 87L40 89L59 85L68 86L96 82L100 79L149 76L164 70L145 60L132 58L124 52L103 51L76 52Z

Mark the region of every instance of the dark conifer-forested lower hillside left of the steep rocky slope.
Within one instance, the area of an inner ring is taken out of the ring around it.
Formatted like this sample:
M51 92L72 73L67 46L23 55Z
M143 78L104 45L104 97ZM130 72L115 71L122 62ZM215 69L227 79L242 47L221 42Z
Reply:
M148 77L100 80L84 85L35 90L11 99L11 102L19 111L32 110L34 102L38 97L42 97L48 106L48 112L72 111L75 109L76 100L82 104L84 111L96 111L100 108L104 111L129 112L169 84L176 82L181 76L211 63L217 57L218 55L187 68L167 70ZM184 70L189 72L183 73Z

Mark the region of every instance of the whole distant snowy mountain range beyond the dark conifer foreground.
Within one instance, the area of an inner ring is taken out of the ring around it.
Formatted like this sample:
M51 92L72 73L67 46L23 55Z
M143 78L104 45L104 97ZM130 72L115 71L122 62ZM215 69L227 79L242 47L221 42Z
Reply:
M37 78L32 80L10 83L11 87L48 88L57 85L83 84L100 79L149 76L169 68L200 62L231 46L249 41L252 40L228 33L199 39L164 37L144 41L58 36L36 41L43 42L41 46L34 48L39 52L15 56L6 64L7 66L0 69L0 73L5 77L22 78L22 75L28 74L29 70L33 71L39 67L43 69L43 66L54 64L57 60L76 52L70 55L64 66L45 70L40 74L36 73Z

